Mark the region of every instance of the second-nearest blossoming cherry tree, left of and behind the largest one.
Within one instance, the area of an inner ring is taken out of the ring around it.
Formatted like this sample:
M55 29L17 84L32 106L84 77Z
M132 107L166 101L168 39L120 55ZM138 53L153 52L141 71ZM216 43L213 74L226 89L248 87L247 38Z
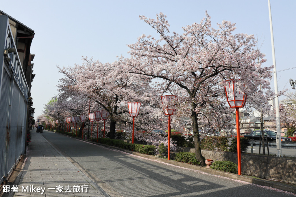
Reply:
M160 113L160 110L157 113L151 113L153 106L159 104L154 97L151 97L154 91L149 85L150 81L125 70L125 62L123 57L112 64L103 64L92 58L83 57L82 65L75 64L74 67L59 68L65 75L59 85L61 95L65 97L63 100L72 100L70 98L79 94L89 98L92 111L107 110L110 113L110 138L112 139L115 138L116 123L121 123L120 128L128 127L131 123L127 102L142 102L140 118L137 118L136 124L139 129L151 128L151 124L147 123L156 120L154 117ZM79 105L79 108L82 107Z

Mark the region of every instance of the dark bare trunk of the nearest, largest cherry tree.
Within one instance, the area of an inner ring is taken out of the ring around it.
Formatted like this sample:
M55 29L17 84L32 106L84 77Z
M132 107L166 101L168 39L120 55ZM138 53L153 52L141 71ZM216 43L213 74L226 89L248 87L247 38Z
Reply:
M194 136L195 157L198 161L200 161L202 166L205 166L205 157L202 156L202 152L200 149L200 133L198 132L197 114L194 111L196 105L192 103L191 106L192 106L191 113L192 113L192 130L193 130L193 136Z

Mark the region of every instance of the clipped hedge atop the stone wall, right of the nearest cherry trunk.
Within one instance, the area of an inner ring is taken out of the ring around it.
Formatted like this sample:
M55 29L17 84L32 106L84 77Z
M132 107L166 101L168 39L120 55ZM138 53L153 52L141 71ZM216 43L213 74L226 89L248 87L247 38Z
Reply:
M241 152L247 152L248 139L241 137ZM230 149L228 149L228 147ZM231 146L228 146L228 139L225 136L205 136L200 144L201 149L219 150L225 152L237 152L237 138L231 141Z

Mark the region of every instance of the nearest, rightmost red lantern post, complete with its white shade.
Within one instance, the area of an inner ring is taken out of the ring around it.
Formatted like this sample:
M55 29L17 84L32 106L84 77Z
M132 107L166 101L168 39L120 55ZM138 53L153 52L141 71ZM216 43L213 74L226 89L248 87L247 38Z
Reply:
M240 153L240 135L239 135L239 108L243 108L246 104L247 95L244 92L240 92L238 87L235 85L233 79L226 81L225 93L227 102L230 108L235 108L236 119L237 119L237 167L238 174L242 175L241 166L241 153Z

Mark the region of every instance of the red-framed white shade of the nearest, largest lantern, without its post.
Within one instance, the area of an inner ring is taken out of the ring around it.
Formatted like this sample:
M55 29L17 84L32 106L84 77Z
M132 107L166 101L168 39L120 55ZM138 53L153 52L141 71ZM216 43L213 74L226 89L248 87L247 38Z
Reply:
M247 95L239 91L233 79L226 81L225 93L230 108L243 108L246 104Z

